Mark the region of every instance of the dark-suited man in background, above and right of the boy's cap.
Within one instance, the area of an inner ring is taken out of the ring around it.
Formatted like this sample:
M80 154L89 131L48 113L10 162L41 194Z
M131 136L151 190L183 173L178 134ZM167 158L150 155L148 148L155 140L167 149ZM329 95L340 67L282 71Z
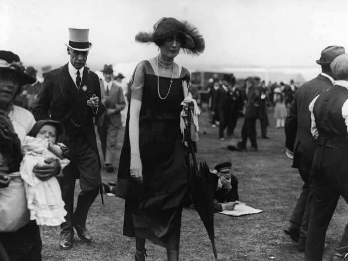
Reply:
M238 151L243 151L247 147L247 139L249 138L251 143L251 151L258 150L258 144L256 141L256 120L259 117L260 109L260 88L255 86L254 78L248 77L246 79L246 103L245 103L245 115L244 123L242 127L242 140L237 143Z

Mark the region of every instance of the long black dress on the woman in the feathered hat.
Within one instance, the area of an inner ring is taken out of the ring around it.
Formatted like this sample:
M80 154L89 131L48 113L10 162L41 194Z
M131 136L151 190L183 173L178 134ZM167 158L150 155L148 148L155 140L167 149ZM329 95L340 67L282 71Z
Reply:
M136 183L130 177L128 109L117 185L117 196L126 199L123 234L178 249L182 202L188 191L188 158L180 131L180 103L184 99L182 80L189 81L189 72L182 68L180 78L173 79L167 98L161 100L157 92L157 76L148 61L142 63L144 87L139 148L143 183ZM159 77L161 97L166 96L170 80Z

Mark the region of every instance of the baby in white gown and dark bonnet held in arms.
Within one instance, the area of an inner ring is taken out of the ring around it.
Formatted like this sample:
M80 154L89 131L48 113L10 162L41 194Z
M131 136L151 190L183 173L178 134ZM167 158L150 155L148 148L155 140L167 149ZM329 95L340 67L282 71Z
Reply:
M55 177L40 181L32 172L36 164L43 163L47 158L60 161L62 169L69 164L66 159L67 148L56 144L62 133L62 126L53 120L36 122L22 144L23 161L20 175L25 183L25 192L30 211L30 220L36 220L38 225L58 226L65 222L64 209L59 183Z

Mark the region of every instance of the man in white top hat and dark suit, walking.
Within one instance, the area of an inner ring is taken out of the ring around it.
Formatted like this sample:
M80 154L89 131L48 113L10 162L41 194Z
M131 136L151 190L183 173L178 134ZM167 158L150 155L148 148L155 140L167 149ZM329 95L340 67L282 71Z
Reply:
M51 118L62 123L65 135L61 142L73 154L70 164L63 170L64 176L59 180L68 212L66 222L61 225L61 249L72 247L73 227L81 240L91 242L86 218L101 186L93 117L101 115L105 106L99 102L98 76L85 67L92 47L88 35L89 29L69 28L69 43L66 46L70 60L46 74L33 110L36 120ZM82 191L73 212L76 178L80 178Z

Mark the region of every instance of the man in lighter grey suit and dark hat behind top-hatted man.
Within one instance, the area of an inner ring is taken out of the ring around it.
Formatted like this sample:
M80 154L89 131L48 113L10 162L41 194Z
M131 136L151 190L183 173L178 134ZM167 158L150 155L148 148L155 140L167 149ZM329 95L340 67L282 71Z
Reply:
M96 120L104 163L107 172L113 172L117 149L117 135L122 126L121 111L126 106L122 87L113 78L112 65L104 66L102 70L104 80L100 79L101 101L106 107L105 113Z

